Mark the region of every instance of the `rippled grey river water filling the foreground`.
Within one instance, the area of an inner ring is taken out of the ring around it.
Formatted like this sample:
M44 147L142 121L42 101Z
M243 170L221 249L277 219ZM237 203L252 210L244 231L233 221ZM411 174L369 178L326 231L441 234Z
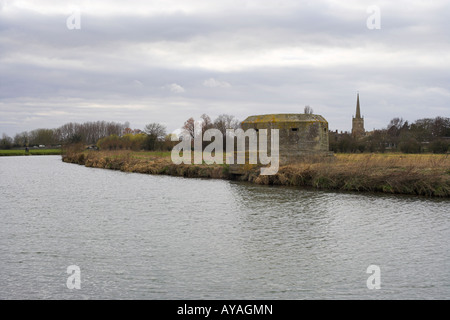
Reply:
M0 223L0 299L450 298L448 199L2 157Z

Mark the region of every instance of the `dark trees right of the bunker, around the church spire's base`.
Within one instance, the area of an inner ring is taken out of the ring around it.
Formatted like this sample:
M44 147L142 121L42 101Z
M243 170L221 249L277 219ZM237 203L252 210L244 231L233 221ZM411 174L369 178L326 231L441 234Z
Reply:
M359 138L330 132L329 141L334 152L446 153L450 151L450 118L423 118L413 123L394 118L386 128Z

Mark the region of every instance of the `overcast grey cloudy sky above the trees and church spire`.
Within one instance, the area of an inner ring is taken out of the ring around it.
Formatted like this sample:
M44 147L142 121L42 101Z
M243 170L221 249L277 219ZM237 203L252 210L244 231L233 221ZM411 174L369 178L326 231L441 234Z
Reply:
M0 0L0 133L305 105L350 130L357 91L367 130L448 117L448 17L443 0Z

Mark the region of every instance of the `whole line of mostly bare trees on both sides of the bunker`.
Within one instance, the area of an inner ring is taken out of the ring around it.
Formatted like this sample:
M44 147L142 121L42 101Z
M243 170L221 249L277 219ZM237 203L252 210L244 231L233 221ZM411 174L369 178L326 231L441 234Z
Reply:
M305 113L307 110L305 109ZM312 112L312 110L311 110ZM196 135L194 118L187 119L182 132L194 138ZM222 114L212 120L203 114L197 121L197 128L203 134L210 128L218 129L225 139L227 129L238 129L240 121L233 115ZM413 123L402 118L392 119L386 128L374 130L363 137L350 133L330 131L330 150L334 152L386 152L404 153L446 153L450 151L450 118L423 118ZM36 129L16 134L13 138L2 135L0 149L21 148L35 145L64 145L80 143L96 145L106 150L167 150L173 142L167 129L159 123L149 123L143 130L131 129L128 122L85 122L66 123L56 129ZM224 141L225 145L225 141Z

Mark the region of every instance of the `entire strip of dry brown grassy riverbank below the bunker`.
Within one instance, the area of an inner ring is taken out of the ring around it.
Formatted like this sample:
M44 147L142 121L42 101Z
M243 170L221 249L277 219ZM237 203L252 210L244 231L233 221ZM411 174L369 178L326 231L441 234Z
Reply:
M86 167L189 178L235 179L265 185L450 197L450 157L420 154L336 154L333 162L305 161L280 167L273 176L251 168L243 175L228 165L175 165L170 152L68 152L62 160Z

